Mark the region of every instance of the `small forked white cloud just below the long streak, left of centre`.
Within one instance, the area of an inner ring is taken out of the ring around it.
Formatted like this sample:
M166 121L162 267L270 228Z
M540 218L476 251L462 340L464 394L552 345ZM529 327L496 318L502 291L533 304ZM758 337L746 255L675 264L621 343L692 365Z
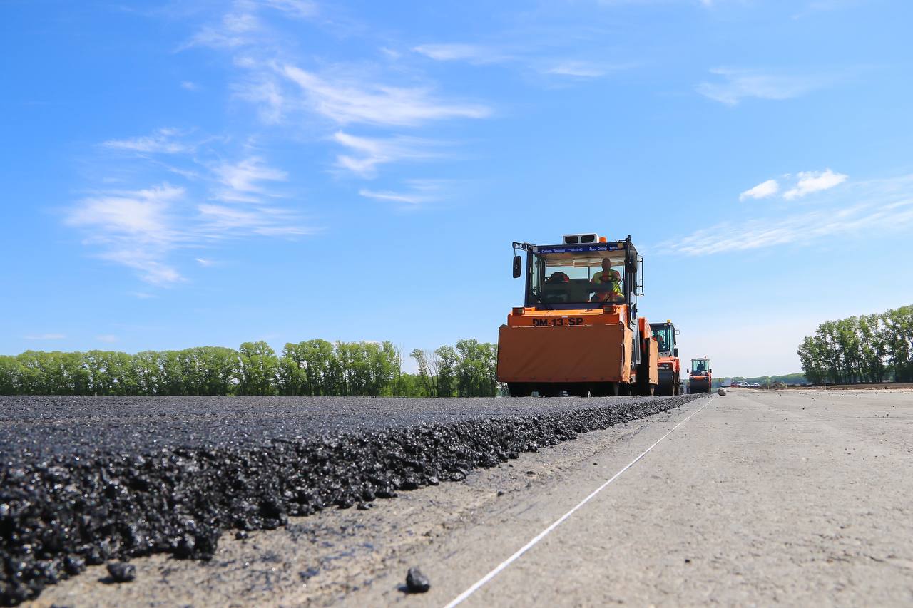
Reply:
M333 140L355 152L337 155L336 164L362 177L373 177L377 173L377 165L386 162L423 161L442 155L433 150L442 144L415 137L378 139L337 131Z

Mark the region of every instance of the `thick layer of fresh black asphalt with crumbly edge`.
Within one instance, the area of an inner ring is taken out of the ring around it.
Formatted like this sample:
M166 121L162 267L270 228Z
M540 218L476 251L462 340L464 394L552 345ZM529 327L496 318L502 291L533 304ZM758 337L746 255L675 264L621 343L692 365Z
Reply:
M701 396L0 397L0 605L87 564L208 560L226 529L460 480Z

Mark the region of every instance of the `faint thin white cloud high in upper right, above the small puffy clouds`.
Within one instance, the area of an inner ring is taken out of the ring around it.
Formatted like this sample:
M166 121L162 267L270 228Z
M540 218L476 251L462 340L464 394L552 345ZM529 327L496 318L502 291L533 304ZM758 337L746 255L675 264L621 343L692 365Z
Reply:
M711 69L721 82L701 82L698 93L711 100L736 105L747 98L789 100L829 84L833 79L765 73L752 69Z

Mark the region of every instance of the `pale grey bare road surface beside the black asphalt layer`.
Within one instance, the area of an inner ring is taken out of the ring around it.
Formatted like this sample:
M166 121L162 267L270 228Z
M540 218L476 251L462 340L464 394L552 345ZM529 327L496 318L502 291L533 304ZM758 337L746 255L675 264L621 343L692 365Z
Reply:
M910 391L733 390L39 603L443 606L502 564L461 605L910 605L911 428ZM412 565L430 592L400 591Z

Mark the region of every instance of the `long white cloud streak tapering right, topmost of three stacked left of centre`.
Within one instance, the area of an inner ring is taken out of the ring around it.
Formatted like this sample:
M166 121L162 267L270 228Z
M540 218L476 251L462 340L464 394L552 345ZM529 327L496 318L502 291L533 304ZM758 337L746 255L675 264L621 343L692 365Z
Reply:
M354 79L324 79L295 66L279 73L299 86L310 110L340 124L415 126L454 118L486 118L488 107L438 100L426 88L392 87Z

